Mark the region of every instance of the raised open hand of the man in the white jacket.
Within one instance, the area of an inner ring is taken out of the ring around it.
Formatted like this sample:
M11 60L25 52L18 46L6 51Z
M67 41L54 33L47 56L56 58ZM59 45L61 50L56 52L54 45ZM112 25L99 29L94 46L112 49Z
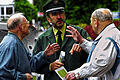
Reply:
M84 38L80 35L80 33L73 27L67 26L69 30L67 32L71 33L72 35L66 35L67 37L72 37L76 42L83 43Z

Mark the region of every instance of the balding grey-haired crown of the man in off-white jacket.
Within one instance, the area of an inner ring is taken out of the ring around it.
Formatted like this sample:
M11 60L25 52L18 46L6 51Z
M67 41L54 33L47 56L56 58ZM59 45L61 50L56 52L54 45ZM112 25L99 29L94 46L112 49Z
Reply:
M113 20L112 12L107 8L99 8L92 13L92 17L100 21Z

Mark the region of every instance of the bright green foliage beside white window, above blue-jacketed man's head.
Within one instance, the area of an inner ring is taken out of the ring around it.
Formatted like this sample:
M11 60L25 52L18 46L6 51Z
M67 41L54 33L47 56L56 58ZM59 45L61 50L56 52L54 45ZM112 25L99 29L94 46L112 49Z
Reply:
M27 0L16 0L15 11L24 13L26 18L30 22L32 21L32 19L38 20L37 18L38 9L32 4L30 4Z

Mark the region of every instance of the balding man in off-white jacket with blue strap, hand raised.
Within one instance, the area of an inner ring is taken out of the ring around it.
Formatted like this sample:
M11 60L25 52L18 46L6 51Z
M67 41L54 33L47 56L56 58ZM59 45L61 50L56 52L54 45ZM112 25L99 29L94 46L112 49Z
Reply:
M66 79L116 80L114 78L116 72L113 68L117 50L109 38L112 38L116 43L120 43L120 31L113 23L112 12L107 8L95 10L91 15L91 25L94 32L98 34L92 45L75 28L67 27L69 29L67 31L71 33L67 37L73 37L75 41L79 42L79 46L88 52L89 56L87 63L76 70L69 71ZM119 45L118 48L120 48Z

